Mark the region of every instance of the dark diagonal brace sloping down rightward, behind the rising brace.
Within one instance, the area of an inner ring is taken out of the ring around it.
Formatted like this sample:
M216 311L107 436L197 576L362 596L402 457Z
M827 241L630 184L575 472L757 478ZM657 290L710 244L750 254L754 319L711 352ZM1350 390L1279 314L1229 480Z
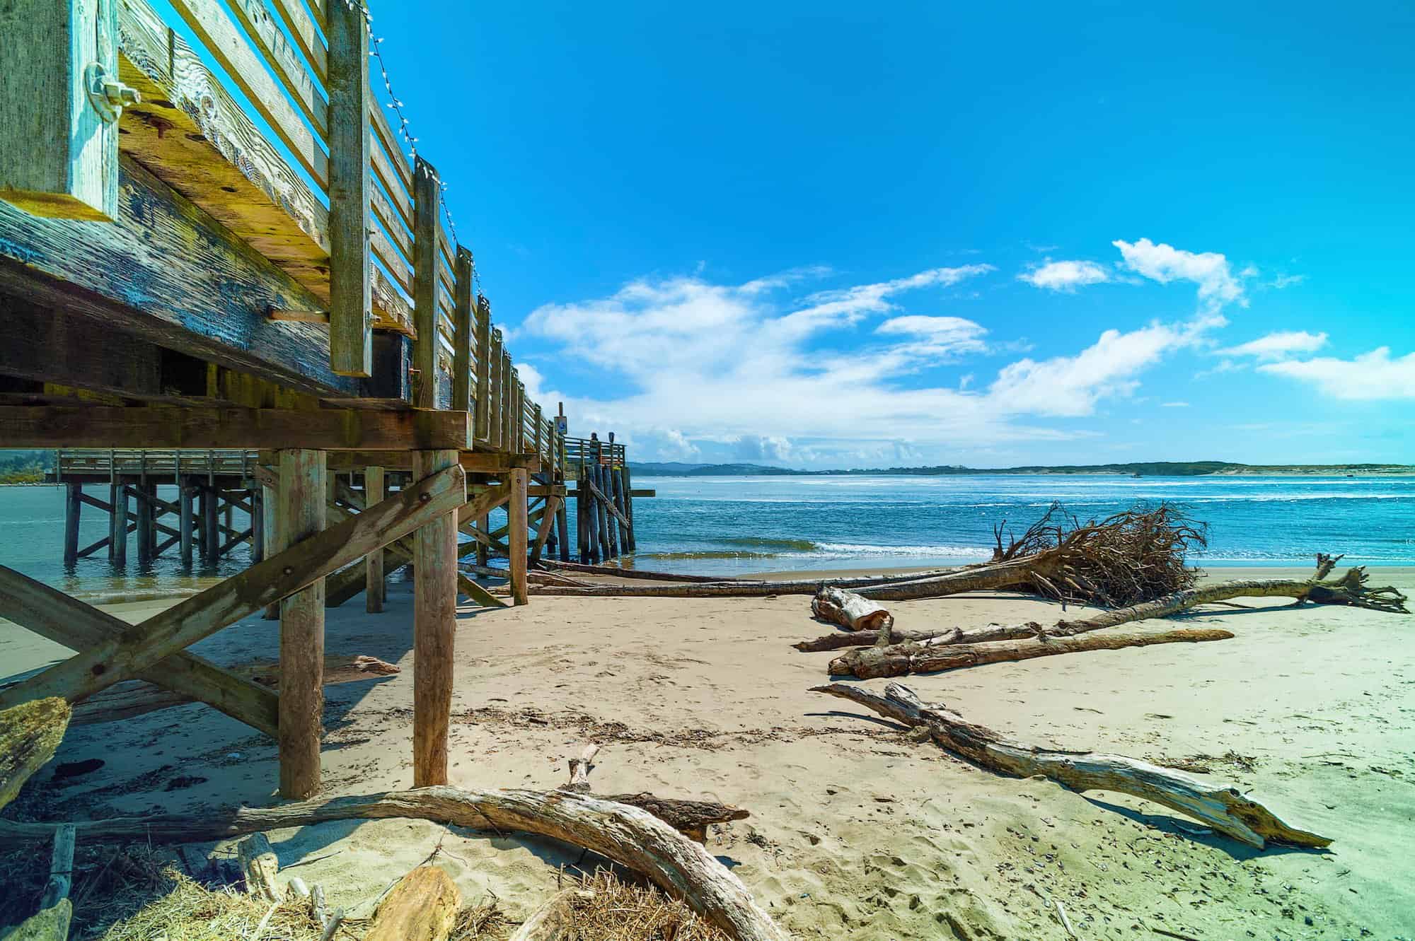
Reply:
M0 567L0 616L71 650L86 650L133 630L105 610L4 567ZM275 694L209 660L181 651L140 670L136 678L205 702L272 738L276 735Z

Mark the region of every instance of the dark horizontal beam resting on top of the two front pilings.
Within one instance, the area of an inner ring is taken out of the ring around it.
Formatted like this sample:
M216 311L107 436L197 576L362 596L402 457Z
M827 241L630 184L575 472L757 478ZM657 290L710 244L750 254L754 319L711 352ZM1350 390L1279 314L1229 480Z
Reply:
M0 407L0 441L11 448L432 451L467 448L470 432L464 411Z

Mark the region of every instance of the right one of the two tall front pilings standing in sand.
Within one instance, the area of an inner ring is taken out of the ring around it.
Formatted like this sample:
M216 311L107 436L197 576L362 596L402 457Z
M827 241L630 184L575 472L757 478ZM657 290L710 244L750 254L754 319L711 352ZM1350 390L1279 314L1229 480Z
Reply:
M456 451L413 452L419 480L456 465ZM457 514L447 513L413 540L413 787L447 783L456 633Z

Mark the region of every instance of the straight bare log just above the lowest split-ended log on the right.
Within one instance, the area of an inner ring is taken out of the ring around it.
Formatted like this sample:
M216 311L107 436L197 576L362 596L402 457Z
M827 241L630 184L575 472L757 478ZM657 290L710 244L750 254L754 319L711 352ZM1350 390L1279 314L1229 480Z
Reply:
M910 673L938 673L959 667L976 667L985 663L1010 660L1032 660L1054 654L1084 653L1088 650L1121 650L1122 647L1149 647L1150 644L1196 643L1203 640L1228 640L1231 632L1215 627L1180 627L1150 633L1107 633L1078 637L1051 637L1032 640L996 640L981 644L938 644L934 641L891 644L889 647L865 647L852 650L831 661L831 674L838 677L903 677Z

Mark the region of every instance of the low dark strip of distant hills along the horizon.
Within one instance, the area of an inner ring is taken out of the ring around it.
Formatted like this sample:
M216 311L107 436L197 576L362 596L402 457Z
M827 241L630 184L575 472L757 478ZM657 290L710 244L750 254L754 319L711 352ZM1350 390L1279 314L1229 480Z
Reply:
M771 468L760 463L682 463L671 461L666 463L631 463L634 473L659 478L737 478L737 476L826 476L826 475L913 475L913 476L945 476L966 473L1125 473L1143 478L1196 478L1204 475L1241 475L1241 473L1302 473L1302 475L1343 475L1343 473L1384 473L1384 475L1415 475L1415 465L1404 463L1234 463L1230 461L1140 461L1129 463L1065 463L1065 465L1026 465L1020 468L964 468L958 465L940 465L931 468L869 468L849 470L794 470L791 468Z

